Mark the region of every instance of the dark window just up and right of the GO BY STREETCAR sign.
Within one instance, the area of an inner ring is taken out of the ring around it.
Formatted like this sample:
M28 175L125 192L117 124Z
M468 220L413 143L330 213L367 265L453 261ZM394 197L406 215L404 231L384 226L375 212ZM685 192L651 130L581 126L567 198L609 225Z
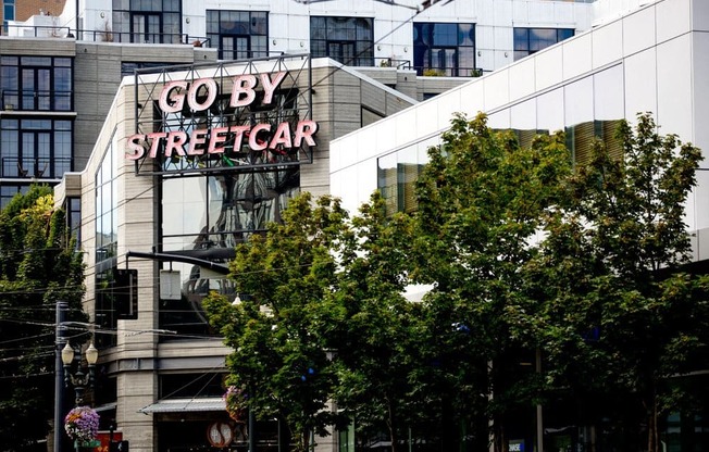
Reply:
M368 17L310 17L310 53L329 56L348 66L374 65L373 20Z

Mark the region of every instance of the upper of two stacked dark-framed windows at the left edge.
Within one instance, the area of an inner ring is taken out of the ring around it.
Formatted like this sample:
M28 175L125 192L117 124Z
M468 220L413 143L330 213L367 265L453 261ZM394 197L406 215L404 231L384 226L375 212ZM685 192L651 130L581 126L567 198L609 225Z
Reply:
M72 72L71 58L2 56L3 109L72 111Z

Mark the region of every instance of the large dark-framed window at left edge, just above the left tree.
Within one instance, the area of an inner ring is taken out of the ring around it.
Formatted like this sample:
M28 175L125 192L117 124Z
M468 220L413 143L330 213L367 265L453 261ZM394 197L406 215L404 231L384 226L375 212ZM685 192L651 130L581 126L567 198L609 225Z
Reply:
M72 122L0 122L0 177L59 179L72 171Z

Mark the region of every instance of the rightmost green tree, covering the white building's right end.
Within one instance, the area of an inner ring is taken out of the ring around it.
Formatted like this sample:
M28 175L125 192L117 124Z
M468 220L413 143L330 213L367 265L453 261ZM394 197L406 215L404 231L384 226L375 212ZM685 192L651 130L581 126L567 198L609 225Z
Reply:
M707 340L707 278L686 271L684 223L701 154L660 136L649 114L634 129L623 122L619 138L624 158L597 143L568 202L549 211L543 253L524 272L527 293L544 302L511 315L536 332L556 386L596 416L627 420L626 431L646 425L656 452L658 418L681 400L670 377L692 371Z

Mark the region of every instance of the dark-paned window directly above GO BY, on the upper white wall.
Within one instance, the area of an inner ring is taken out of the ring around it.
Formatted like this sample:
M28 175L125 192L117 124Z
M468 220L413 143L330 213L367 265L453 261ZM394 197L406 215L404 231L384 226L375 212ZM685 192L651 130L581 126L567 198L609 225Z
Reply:
M219 48L220 60L268 56L269 13L208 10L207 37Z

